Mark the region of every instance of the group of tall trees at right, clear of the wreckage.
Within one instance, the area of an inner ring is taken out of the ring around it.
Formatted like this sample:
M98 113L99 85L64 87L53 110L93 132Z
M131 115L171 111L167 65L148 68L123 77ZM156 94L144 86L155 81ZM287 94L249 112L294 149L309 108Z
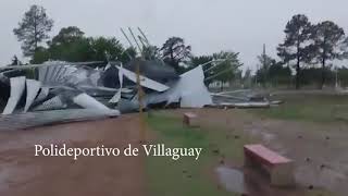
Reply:
M286 24L284 33L284 41L276 48L281 60L265 52L259 56L254 81L263 85L295 83L297 89L310 83L323 88L336 77L347 83L347 69L333 70L335 60L345 60L348 54L348 38L341 27L332 21L312 24L306 15L297 14Z

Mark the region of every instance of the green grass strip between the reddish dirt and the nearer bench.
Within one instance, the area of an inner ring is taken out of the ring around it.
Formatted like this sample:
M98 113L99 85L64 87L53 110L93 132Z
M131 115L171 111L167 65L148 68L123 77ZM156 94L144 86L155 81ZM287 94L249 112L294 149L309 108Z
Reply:
M197 161L194 158L174 161L167 157L148 157L146 171L149 195L234 195L217 186L212 172L214 166L225 159L243 162L245 138L240 136L231 140L222 134L224 132L184 127L181 119L166 115L165 112L152 114L147 121L157 136L156 143L164 143L169 147L203 148Z

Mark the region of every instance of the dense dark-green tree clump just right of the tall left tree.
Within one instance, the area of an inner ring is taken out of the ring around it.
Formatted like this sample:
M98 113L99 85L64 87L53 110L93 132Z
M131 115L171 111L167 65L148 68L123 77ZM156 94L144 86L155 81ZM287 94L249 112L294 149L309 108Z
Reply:
M125 51L114 37L94 38L84 35L85 33L76 26L62 28L52 40L48 41L47 49L42 47L37 49L32 62L42 63L50 59L70 62L117 60L125 63L135 57L132 49Z

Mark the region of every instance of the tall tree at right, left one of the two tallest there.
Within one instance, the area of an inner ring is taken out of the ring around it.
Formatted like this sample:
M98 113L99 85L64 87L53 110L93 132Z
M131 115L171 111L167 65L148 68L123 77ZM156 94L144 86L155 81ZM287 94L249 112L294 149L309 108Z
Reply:
M300 87L301 63L313 59L313 46L309 44L312 25L302 14L294 15L286 24L285 40L277 47L277 54L284 63L296 61L296 89Z

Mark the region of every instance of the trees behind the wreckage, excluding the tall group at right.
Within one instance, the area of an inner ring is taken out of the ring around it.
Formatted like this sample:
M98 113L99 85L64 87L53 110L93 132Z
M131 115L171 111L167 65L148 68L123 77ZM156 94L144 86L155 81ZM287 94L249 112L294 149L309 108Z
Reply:
M69 26L61 28L58 35L49 39L48 35L53 24L53 20L48 16L45 8L32 5L18 26L13 29L18 41L22 42L23 54L30 58L30 63L42 63L48 60L69 62L111 60L128 63L141 52L145 59L161 59L181 74L197 66L197 63L207 62L201 60L228 57L231 60L221 66L227 69L225 73L219 73L220 70L208 73L211 76L219 74L214 78L223 81L232 79L234 72L240 66L238 54L235 52L221 51L208 59L194 57L191 47L181 37L169 38L160 48L142 45L141 49L137 50L135 47L124 47L115 37L87 37L77 26ZM21 63L20 60L14 57L12 64L18 63ZM211 66L207 65L204 69Z

